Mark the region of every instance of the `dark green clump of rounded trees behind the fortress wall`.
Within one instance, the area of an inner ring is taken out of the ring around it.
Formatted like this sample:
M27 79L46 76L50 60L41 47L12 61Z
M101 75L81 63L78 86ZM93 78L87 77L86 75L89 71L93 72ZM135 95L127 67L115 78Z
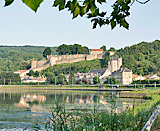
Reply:
M67 54L89 54L88 47L84 46L82 47L79 44L74 45L60 45L56 51L59 55L67 55Z

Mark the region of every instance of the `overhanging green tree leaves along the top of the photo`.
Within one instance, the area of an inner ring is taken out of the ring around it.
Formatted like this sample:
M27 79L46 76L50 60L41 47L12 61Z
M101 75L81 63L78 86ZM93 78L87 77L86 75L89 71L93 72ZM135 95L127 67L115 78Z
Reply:
M5 0L5 6L8 6L13 3L14 0ZM96 28L97 25L100 27L103 25L110 25L111 29L115 28L116 25L129 29L129 24L126 21L126 18L130 16L130 7L135 3L145 4L150 0L140 1L140 0L115 0L113 5L110 5L113 9L110 14L103 11L100 12L100 5L107 3L106 0L54 0L53 7L58 7L59 11L67 9L73 14L73 18L79 16L84 16L87 14L87 18L91 19L93 22L93 28ZM27 6L29 6L33 11L37 11L40 4L43 0L22 0Z

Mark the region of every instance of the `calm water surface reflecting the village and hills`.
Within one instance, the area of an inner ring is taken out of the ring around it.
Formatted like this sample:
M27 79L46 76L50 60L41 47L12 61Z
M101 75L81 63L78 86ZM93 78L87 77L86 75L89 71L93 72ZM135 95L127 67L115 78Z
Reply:
M33 130L36 123L44 125L56 102L65 103L67 111L90 111L95 107L120 112L144 100L119 98L119 92L0 90L0 130Z

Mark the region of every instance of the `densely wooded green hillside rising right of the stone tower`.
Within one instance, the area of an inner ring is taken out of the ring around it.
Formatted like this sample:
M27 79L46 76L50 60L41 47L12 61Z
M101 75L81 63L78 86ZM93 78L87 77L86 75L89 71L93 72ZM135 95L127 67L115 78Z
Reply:
M127 67L134 74L148 75L160 71L160 41L141 42L131 47L117 51L123 57L123 67Z

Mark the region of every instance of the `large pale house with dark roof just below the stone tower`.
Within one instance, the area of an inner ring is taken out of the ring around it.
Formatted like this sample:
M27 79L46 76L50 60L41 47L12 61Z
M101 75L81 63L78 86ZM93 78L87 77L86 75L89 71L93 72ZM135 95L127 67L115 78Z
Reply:
M132 70L127 68L120 68L114 71L110 77L114 77L119 80L120 84L131 84L132 83Z

